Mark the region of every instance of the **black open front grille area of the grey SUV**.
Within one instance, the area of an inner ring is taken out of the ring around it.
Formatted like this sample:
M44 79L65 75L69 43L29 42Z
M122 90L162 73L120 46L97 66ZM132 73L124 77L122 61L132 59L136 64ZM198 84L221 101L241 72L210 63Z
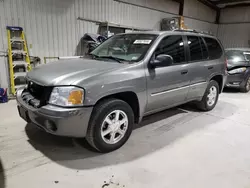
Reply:
M27 89L22 93L22 99L27 104L40 108L48 103L51 91L52 87L41 86L35 82L28 81Z

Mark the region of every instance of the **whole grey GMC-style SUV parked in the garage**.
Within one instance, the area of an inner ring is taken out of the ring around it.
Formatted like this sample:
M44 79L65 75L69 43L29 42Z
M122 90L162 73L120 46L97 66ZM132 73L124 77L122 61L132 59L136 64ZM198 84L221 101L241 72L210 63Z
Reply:
M212 110L225 83L220 42L197 32L115 35L86 58L35 68L17 91L20 116L48 133L121 147L143 116L195 101Z

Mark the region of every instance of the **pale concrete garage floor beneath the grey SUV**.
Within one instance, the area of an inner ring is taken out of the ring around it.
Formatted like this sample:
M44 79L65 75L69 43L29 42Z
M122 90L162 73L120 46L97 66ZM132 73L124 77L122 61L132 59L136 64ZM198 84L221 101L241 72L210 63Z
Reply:
M249 110L250 94L223 93L212 112L147 117L121 149L98 154L26 125L10 101L0 105L0 188L249 188Z

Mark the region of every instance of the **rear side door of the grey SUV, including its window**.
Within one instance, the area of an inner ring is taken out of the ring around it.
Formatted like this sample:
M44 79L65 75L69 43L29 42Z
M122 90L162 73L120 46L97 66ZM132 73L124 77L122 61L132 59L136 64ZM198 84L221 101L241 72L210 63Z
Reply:
M190 87L187 100L202 97L207 87L209 77L208 49L203 38L195 35L186 37L188 62L190 66Z

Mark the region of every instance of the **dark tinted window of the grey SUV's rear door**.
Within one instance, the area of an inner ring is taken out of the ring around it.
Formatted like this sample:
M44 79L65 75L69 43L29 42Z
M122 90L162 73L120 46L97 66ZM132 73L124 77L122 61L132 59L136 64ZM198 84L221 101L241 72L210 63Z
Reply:
M190 51L190 61L202 60L202 51L199 38L196 36L187 36Z

